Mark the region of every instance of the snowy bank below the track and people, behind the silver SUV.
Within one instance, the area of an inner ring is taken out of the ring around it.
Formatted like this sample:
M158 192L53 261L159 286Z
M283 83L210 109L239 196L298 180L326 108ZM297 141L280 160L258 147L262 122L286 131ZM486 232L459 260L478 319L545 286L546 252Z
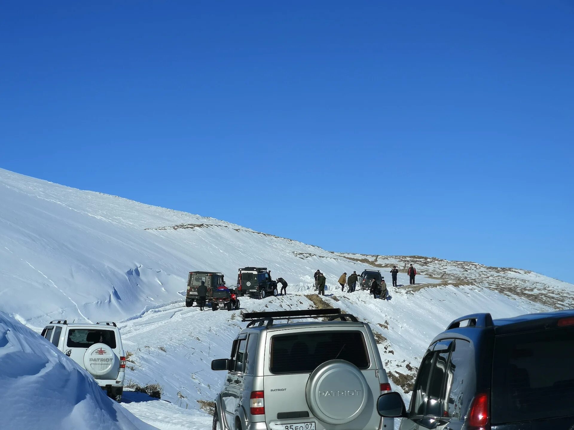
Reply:
M330 290L327 296L319 298L311 287L293 290L294 294L262 300L243 297L242 310L309 309L318 304L342 308L371 324L378 334L379 351L387 372L406 378L414 376L430 339L456 316L484 308L493 316L544 310L528 300L510 299L473 287L441 286L425 288L416 294L390 287L390 300L375 300L367 291L349 294ZM314 295L314 302L308 295ZM222 386L224 376L212 372L211 361L229 356L233 339L245 327L241 322L242 310L211 311L207 307L201 312L197 307L185 307L182 301L119 323L125 350L129 351L126 381L141 386L158 382L163 390L161 401L146 396L133 401L128 395L126 408L162 429L211 428L211 416L198 409L203 407L207 411L206 402L212 401ZM409 401L405 385L401 388L397 384L391 383L393 390Z

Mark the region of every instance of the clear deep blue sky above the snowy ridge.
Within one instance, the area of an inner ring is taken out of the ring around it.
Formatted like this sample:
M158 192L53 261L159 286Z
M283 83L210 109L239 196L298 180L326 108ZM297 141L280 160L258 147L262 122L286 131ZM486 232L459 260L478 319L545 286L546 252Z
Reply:
M573 3L88 3L1 6L0 167L574 282Z

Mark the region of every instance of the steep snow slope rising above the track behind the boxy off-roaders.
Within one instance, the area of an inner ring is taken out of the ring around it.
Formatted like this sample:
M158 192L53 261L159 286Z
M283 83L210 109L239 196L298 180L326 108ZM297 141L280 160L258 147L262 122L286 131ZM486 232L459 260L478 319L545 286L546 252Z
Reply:
M193 269L223 272L231 285L239 267L266 266L293 286L311 283L317 268L334 285L364 267L228 222L1 169L0 202L0 310L36 327L124 319L181 299Z

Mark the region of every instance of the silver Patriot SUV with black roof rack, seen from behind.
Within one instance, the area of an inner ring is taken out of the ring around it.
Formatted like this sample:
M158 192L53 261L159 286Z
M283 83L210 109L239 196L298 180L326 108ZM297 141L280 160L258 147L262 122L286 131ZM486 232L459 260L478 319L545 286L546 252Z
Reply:
M289 323L307 318L324 320ZM214 430L394 428L377 412L391 388L367 323L340 309L251 312L243 321L231 358L211 362L227 370Z

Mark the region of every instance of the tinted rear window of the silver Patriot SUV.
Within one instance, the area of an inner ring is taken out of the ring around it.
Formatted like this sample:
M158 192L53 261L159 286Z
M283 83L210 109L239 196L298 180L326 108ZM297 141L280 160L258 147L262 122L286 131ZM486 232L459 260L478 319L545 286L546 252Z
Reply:
M274 335L269 370L311 373L325 361L341 359L369 368L369 354L360 331L308 331Z

